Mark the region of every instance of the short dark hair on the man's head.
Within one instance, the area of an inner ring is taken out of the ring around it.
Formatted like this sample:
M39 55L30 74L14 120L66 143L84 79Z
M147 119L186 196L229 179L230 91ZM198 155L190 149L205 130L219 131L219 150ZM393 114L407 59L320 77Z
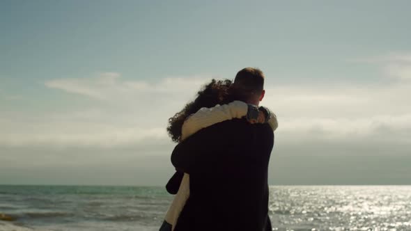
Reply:
M245 67L235 75L234 95L240 100L247 100L253 95L261 94L264 89L264 74L255 67Z

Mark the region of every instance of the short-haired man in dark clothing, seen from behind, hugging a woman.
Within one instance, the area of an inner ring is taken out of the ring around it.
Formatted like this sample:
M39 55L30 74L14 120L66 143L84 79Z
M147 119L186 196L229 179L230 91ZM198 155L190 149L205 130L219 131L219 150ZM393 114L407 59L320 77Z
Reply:
M256 106L264 75L247 67L234 80L235 99ZM271 230L267 170L274 134L245 118L206 127L178 144L171 162L189 173L190 196L175 231Z

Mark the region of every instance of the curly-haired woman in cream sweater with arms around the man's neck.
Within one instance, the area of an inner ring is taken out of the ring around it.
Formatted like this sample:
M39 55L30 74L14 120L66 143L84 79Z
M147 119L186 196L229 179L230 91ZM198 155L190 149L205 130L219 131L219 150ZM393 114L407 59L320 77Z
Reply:
M264 107L260 107L258 119L251 120L249 115L251 110L249 109L252 106L245 102L233 101L235 92L231 85L232 82L228 79L223 81L212 79L211 83L204 86L193 102L187 104L182 111L169 119L167 131L171 139L180 142L202 128L224 120L242 117L246 117L251 123L268 122L273 131L277 129L276 116ZM220 106L220 104L222 105ZM176 172L166 185L166 189L176 196L169 207L160 231L175 228L178 216L189 197L189 175Z

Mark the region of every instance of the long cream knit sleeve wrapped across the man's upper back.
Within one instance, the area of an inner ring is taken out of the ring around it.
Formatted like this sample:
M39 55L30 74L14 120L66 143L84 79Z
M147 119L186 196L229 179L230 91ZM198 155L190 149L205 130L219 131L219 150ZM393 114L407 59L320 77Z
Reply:
M247 115L248 105L242 101L234 101L229 104L218 105L212 108L201 108L185 120L182 127L182 140L198 132L200 129L209 127L217 122L242 118ZM270 124L271 125L271 124Z

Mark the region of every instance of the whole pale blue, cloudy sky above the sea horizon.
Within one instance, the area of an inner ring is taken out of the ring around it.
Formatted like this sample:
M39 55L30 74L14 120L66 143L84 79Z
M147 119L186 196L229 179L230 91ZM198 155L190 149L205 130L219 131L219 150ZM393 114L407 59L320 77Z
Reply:
M163 186L167 120L265 73L270 184L411 184L410 1L0 1L0 184Z

